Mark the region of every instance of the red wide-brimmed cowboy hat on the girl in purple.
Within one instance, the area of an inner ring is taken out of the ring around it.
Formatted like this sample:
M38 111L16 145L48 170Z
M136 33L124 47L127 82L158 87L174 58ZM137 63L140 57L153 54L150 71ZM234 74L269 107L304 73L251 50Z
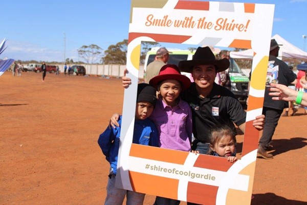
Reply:
M149 85L157 88L159 83L163 80L178 80L181 83L182 91L188 89L191 85L191 80L180 73L179 68L173 64L164 65L159 72L159 75L149 80Z

